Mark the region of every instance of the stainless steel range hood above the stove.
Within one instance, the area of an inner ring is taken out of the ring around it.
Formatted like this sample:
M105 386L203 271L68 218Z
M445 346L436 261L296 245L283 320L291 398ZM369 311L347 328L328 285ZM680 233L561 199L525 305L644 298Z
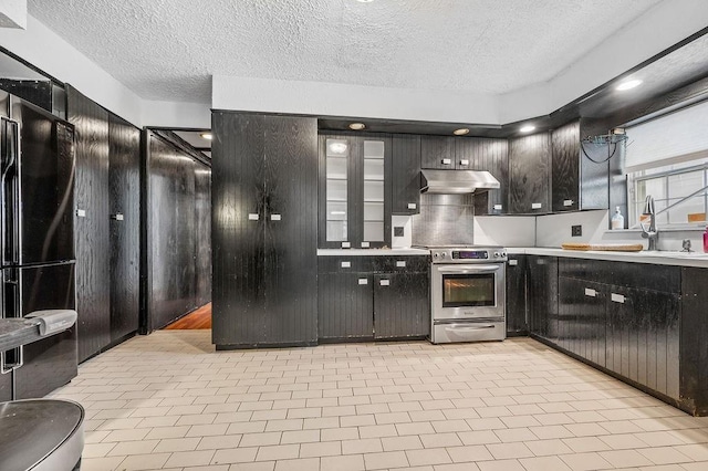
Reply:
M461 195L499 188L497 180L485 170L420 170L421 193Z

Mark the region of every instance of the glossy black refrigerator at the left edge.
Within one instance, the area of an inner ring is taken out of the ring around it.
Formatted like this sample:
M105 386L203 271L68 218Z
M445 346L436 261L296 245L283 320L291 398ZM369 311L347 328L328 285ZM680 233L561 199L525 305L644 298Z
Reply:
M75 310L74 128L0 92L0 310ZM0 400L42 397L77 373L76 327L1 353Z

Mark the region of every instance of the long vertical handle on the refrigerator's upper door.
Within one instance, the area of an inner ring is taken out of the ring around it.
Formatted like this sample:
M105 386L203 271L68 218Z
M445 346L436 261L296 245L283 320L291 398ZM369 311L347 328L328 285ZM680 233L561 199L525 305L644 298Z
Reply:
M0 191L4 198L2 205L2 263L20 263L20 187L19 187L19 135L18 123L2 119L4 149L2 156L2 174L0 176Z

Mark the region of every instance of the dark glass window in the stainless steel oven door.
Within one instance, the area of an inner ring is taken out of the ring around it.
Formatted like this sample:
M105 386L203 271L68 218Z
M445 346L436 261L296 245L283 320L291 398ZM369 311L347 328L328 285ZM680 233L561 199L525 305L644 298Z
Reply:
M442 307L494 305L493 273L442 275Z

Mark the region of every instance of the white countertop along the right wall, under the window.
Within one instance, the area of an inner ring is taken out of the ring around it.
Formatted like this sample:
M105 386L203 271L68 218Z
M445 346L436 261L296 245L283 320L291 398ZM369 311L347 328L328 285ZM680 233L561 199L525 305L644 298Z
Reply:
M674 252L674 251L646 251L641 252L613 252L595 250L563 250L542 247L510 247L507 248L510 255L549 255L568 257L571 259L608 260L611 262L652 263L655 265L677 265L708 268L708 253L702 252Z

